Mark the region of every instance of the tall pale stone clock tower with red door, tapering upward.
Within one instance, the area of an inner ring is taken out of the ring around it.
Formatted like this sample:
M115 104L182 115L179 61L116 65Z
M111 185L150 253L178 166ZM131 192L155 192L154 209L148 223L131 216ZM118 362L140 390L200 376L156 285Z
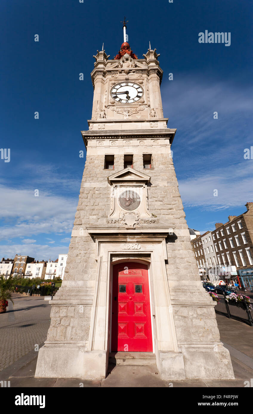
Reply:
M131 355L166 380L234 378L190 243L158 56L127 42L94 56L79 203L36 377L104 378L110 356Z

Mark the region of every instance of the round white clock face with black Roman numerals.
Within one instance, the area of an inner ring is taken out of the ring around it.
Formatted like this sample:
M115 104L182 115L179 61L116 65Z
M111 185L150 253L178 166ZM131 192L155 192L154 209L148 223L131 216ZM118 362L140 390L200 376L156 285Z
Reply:
M134 82L121 82L111 89L111 97L120 103L132 103L139 101L144 95L144 90Z

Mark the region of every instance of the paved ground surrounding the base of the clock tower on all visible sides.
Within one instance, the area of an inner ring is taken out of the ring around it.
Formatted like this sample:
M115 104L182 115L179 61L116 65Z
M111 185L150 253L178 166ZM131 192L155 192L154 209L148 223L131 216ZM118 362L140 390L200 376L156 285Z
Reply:
M253 327L234 319L228 319L223 315L216 315L217 323L221 341L229 349L231 355L235 380L164 381L156 366L115 365L109 366L108 375L103 380L34 378L38 354L34 351L34 344L42 345L46 339L51 305L40 297L20 295L15 296L14 302L15 312L10 309L9 312L0 315L0 332L3 333L0 335L0 350L3 351L4 363L7 366L0 372L0 380L9 380L11 387L243 388L245 381L253 378Z

